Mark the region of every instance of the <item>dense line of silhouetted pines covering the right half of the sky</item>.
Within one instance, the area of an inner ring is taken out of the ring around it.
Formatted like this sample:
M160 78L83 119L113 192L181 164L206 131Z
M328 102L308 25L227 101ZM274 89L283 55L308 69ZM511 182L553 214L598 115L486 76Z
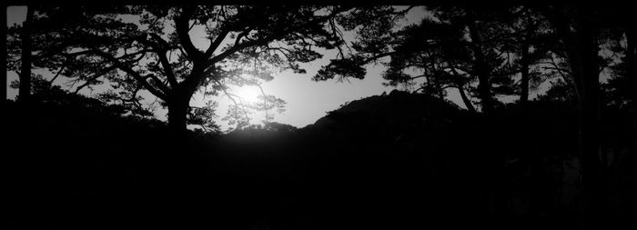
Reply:
M343 17L342 25L359 35L351 45L354 52L333 60L315 79L363 78L366 73L361 66L389 57L383 73L389 85L406 85L440 98L454 88L469 111L479 111L475 104L479 105L485 122L492 125L499 124L494 120L494 111L502 104L498 97L516 98L526 111L522 115L531 113L526 105L532 91L540 91L544 99L570 102L578 111L573 119L578 122L581 226L602 227L605 222L597 216L605 210L610 141L604 135L625 131L620 126L602 129L607 114L618 110L630 114L632 119L622 125L630 126L632 132L622 133L627 135L622 139L632 141L623 142L617 150L634 155L637 149L631 10L560 3L430 5L420 24L397 27L396 16L387 8L371 8ZM545 85L551 86L542 92ZM531 125L534 117L519 118L517 128L537 128ZM475 135L489 133L485 129ZM529 136L522 132L518 138ZM497 145L497 139L480 145ZM528 151L532 145L522 142L516 151Z

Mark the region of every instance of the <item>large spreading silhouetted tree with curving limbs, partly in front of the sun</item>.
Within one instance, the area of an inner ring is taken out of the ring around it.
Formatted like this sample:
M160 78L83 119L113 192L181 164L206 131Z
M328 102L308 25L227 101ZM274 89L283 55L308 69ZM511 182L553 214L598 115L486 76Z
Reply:
M333 24L340 6L76 6L76 25L66 26L66 72L98 84L106 75L126 90L146 90L168 108L168 124L183 130L189 101L213 85L254 85L270 80L273 66L305 73L298 63L320 55L314 47L341 43ZM71 13L73 14L73 13ZM120 16L132 15L129 22ZM165 22L172 21L174 30ZM81 25L81 26L78 26ZM191 29L202 29L210 43L197 48ZM278 43L275 43L278 42ZM64 62L58 63L63 65ZM90 75L89 75L90 74ZM216 86L215 86L216 85ZM133 97L135 98L135 97Z

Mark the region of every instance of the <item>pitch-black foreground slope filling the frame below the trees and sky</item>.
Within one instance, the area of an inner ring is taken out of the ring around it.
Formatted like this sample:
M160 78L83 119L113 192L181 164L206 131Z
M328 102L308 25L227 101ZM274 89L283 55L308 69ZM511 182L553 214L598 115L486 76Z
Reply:
M577 223L576 120L564 104L502 107L487 119L393 92L301 129L220 137L173 136L160 122L120 117L90 100L7 106L3 162L16 228ZM618 112L605 125L616 130L622 119ZM608 134L607 213L619 225L634 212L634 159L622 152L624 134Z

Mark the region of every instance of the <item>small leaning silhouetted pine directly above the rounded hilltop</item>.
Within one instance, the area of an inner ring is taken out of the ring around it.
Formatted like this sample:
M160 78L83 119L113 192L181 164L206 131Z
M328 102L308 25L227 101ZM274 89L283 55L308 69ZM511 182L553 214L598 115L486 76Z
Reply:
M470 85L472 79L463 68L469 54L461 49L462 36L451 25L430 18L425 18L420 25L410 25L400 30L396 35L399 45L394 47L396 53L390 55L389 68L383 78L389 80L389 85L425 78L417 91L423 90L440 98L446 95L446 88L456 87L465 106L475 112L470 98L465 94L465 86ZM417 68L422 74L405 74L404 71L410 68Z

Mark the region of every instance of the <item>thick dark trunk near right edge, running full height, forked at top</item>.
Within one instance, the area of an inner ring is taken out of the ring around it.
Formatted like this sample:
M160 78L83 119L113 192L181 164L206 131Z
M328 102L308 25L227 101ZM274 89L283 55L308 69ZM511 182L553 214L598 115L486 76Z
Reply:
M599 141L599 65L595 42L596 30L588 21L589 12L578 9L574 16L575 31L569 21L560 26L565 38L571 72L580 93L580 161L581 161L581 225L583 229L599 229L602 217L602 175ZM558 14L561 14L559 12Z

